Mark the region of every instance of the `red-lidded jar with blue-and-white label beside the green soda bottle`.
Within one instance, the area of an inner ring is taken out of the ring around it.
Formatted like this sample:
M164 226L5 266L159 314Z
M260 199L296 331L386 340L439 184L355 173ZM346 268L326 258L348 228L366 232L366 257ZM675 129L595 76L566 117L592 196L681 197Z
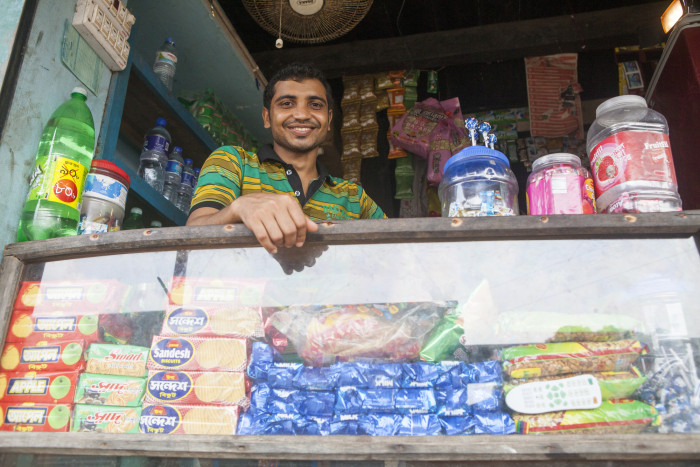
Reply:
M104 159L94 159L85 179L78 234L121 229L131 180L122 169Z

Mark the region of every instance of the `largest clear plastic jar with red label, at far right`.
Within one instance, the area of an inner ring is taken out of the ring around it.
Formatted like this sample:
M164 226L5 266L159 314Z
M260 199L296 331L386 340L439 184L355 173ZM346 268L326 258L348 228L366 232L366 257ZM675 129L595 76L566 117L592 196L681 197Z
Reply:
M643 97L600 104L586 147L598 212L681 210L668 123Z

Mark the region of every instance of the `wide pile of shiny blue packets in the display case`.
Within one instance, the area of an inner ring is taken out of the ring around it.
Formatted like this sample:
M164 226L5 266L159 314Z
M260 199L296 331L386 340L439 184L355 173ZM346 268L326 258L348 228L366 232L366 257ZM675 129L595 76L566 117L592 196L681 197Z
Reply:
M278 362L252 348L250 408L238 434L422 436L511 434L498 361L466 364Z

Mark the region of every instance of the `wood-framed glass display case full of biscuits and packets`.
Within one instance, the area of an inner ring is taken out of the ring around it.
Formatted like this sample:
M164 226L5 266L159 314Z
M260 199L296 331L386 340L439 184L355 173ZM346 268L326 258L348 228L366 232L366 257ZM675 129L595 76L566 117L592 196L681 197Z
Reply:
M698 231L688 211L324 223L275 255L233 225L9 245L0 449L697 460Z

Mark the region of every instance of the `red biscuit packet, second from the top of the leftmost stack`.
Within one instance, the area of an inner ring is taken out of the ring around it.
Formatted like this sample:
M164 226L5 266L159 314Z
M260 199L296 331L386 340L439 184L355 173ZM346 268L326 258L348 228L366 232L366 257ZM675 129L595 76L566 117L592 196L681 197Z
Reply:
M28 311L15 311L6 341L25 345L78 339L94 342L99 339L97 322L98 315L95 314L36 316Z

